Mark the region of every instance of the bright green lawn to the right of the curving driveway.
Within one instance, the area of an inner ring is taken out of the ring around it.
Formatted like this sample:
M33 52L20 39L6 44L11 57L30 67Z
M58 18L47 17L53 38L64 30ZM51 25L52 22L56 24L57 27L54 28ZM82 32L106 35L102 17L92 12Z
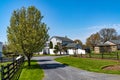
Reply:
M77 57L61 57L61 58L56 58L55 60L63 64L68 64L70 66L92 72L120 74L120 70L102 69L104 66L108 66L108 65L120 65L120 62L113 60L101 60L101 59L77 58Z

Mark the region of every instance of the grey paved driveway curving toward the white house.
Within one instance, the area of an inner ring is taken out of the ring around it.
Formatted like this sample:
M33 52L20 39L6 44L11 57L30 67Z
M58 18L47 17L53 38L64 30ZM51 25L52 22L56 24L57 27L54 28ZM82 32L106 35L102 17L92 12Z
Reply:
M58 56L57 56L58 57ZM120 80L120 75L88 72L54 61L55 56L34 57L44 69L44 80Z

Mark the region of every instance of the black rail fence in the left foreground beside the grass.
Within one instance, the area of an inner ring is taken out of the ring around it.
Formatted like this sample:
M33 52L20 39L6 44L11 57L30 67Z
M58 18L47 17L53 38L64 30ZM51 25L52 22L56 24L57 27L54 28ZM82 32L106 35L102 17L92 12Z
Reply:
M20 76L22 66L24 63L24 57L15 60L7 66L1 66L1 80L17 80Z

